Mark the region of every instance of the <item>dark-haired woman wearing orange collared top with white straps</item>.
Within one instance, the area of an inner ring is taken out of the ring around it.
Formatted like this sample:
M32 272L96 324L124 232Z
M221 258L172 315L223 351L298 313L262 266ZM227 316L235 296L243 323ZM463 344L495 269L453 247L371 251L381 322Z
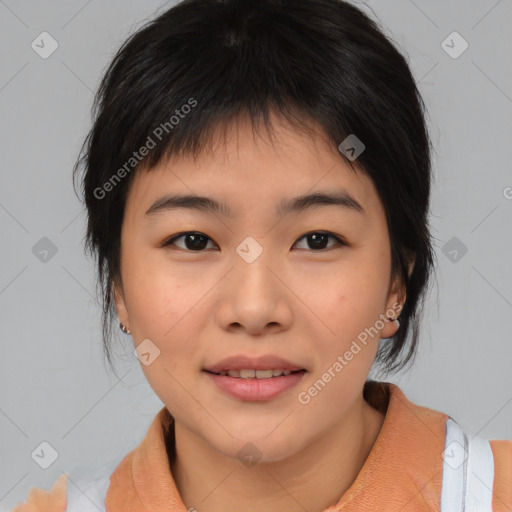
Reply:
M417 349L430 149L347 2L185 0L131 36L75 170L106 354L117 317L165 407L15 511L510 511L512 441L368 379Z

